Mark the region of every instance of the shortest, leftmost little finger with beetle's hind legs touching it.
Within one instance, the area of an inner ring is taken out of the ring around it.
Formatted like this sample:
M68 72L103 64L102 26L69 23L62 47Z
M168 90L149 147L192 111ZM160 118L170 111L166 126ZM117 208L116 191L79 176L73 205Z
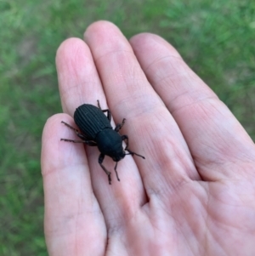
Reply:
M76 139L64 125L59 125L63 119L73 124L71 117L58 114L48 119L42 134L48 253L102 255L106 247L105 220L92 191L83 146L60 141L60 138Z

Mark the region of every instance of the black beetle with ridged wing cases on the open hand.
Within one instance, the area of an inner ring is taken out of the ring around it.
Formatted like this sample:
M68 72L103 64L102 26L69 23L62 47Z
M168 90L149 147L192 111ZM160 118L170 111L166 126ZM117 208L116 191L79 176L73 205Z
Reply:
M107 117L105 116L107 112ZM115 165L116 178L120 181L116 168L117 163L121 161L126 155L136 155L145 159L133 151L128 149L128 136L119 134L120 129L124 125L126 119L123 118L122 123L117 123L116 128L111 127L111 111L109 109L102 110L98 100L98 107L90 104L80 105L74 113L74 121L77 127L81 130L81 133L71 127L68 123L62 121L68 128L75 131L77 136L82 140L76 139L60 139L73 143L85 143L86 145L97 146L99 155L99 165L105 171L108 176L109 184L111 185L111 172L109 172L103 165L105 156L110 156ZM126 142L126 147L123 149L122 141ZM127 151L128 153L126 153Z

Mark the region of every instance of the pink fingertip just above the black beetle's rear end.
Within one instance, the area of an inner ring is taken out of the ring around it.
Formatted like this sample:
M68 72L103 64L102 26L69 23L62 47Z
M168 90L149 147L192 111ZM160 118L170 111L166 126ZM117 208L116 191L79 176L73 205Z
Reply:
M56 54L59 93L63 111L73 115L77 106L103 94L99 74L88 45L80 38L60 44Z

